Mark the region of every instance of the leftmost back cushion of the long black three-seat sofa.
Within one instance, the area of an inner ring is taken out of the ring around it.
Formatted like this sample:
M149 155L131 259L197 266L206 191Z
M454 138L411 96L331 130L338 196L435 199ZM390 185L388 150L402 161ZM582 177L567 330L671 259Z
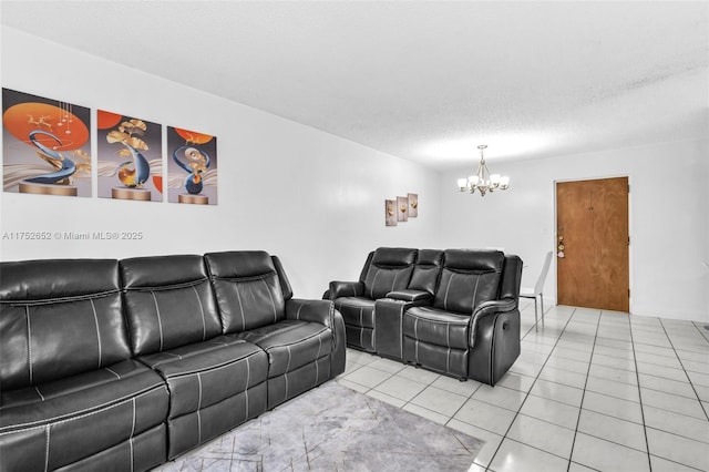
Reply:
M0 384L41 384L131 357L119 263L0 264Z

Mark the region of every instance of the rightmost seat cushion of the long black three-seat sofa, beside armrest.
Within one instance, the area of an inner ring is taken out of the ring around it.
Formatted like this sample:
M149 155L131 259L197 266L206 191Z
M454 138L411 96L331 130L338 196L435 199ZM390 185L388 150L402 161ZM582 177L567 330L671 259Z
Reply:
M284 320L233 336L268 353L268 378L312 363L332 351L332 331L318 322Z

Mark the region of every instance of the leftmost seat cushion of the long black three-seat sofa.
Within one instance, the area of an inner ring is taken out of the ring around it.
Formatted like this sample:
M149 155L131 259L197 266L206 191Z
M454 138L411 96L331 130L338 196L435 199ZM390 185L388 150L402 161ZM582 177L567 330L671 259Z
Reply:
M163 379L135 360L2 391L0 470L72 464L162 424ZM130 442L127 447L133 444ZM164 458L164 449L158 452Z

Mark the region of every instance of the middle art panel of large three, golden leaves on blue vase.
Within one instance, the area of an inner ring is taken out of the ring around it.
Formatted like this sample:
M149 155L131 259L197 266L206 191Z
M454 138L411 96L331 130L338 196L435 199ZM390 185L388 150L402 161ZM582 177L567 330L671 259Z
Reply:
M99 196L162 202L162 126L99 110L96 129Z

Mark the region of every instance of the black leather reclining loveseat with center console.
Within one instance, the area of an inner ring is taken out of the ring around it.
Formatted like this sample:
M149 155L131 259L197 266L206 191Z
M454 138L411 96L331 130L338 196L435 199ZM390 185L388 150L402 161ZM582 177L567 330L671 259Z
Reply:
M499 250L380 247L331 281L348 346L494 386L520 356L522 260Z

